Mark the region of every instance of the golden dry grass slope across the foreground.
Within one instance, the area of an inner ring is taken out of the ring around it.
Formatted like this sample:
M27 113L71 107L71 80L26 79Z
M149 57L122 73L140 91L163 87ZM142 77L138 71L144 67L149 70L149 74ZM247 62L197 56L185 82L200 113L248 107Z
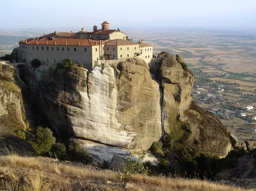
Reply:
M27 191L242 191L198 179L131 176L44 157L0 156L0 190ZM252 189L248 190L252 191Z

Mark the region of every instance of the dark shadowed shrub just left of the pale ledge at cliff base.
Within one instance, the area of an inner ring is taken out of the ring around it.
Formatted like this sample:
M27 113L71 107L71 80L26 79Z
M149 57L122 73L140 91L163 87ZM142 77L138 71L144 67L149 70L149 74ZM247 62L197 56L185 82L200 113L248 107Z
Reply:
M68 156L71 161L80 161L85 164L91 162L91 158L86 150L76 141L69 145Z

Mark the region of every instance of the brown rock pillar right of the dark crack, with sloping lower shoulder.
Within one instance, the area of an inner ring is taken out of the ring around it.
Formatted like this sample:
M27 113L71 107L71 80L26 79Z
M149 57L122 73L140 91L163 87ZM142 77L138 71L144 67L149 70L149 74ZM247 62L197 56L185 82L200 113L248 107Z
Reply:
M215 116L198 107L190 97L193 74L182 69L183 58L162 52L160 70L163 86L163 128L169 133L169 120L184 122L190 132L189 141L202 153L226 156L232 148L226 127ZM180 63L178 62L180 61Z

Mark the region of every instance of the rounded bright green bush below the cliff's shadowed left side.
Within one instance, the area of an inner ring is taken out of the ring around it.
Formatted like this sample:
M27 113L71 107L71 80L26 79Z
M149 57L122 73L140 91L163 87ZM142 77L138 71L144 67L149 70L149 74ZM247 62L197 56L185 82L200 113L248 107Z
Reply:
M29 144L34 148L39 155L48 152L55 143L55 137L52 136L52 131L48 128L37 127L35 137L29 139Z

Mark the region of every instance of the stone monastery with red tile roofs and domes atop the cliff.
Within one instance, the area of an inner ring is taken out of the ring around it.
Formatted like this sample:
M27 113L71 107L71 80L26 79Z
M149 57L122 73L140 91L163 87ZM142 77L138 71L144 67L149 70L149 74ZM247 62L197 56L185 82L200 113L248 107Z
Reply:
M53 32L37 38L22 39L19 42L20 61L30 63L34 58L42 64L62 63L65 58L71 58L78 64L92 69L105 60L123 60L126 58L142 58L151 65L153 46L142 40L132 42L126 40L126 33L109 29L105 21L101 29L93 26L93 32L84 28L80 32Z

